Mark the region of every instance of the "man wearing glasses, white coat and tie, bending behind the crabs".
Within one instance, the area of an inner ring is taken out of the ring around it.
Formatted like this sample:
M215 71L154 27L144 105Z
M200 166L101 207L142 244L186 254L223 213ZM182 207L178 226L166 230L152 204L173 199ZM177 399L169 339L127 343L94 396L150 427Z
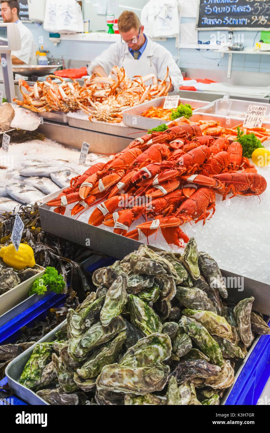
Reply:
M162 45L151 41L143 33L144 27L134 12L125 10L118 18L118 29L121 42L112 44L101 55L96 57L90 65L90 73L98 72L107 77L113 66L124 67L127 77L134 75L155 74L162 80L169 67L169 76L172 79L170 92L179 91L183 77L180 69L173 60L171 53ZM150 84L152 80L146 81ZM169 83L169 81L168 81Z

